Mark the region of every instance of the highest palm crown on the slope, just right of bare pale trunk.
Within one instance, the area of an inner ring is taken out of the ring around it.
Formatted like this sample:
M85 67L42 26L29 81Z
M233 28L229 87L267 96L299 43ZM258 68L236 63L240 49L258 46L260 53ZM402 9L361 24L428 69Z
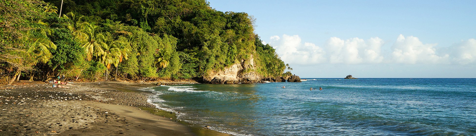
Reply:
M66 27L66 28L68 28L69 31L71 31L73 33L73 35L76 36L76 38L78 38L80 40L87 37L86 33L82 32L82 30L89 25L88 22L79 23L81 21L81 18L83 18L83 17L84 16L79 16L78 17L73 12L69 12L69 13L63 15L63 18L69 18L72 21L71 25Z

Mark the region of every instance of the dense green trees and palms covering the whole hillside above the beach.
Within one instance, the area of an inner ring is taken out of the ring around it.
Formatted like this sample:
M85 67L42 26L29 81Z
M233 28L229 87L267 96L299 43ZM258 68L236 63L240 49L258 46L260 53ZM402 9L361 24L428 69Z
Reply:
M0 0L0 82L191 79L254 58L292 70L262 44L254 18L205 0ZM250 64L251 65L251 64Z

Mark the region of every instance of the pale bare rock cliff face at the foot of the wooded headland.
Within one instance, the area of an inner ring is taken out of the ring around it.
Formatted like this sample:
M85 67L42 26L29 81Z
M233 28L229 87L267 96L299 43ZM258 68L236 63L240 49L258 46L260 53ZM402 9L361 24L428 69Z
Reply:
M199 83L236 84L261 82L261 75L256 73L253 55L249 60L241 60L220 71L210 71L208 75L194 78Z

